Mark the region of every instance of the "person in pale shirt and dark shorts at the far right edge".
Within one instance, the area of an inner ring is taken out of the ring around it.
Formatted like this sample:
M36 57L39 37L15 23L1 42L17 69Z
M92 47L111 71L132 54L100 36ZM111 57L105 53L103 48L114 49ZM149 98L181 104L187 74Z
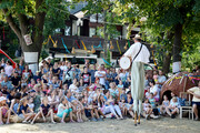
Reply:
M189 89L188 92L193 95L192 99L193 113L196 114L196 120L198 121L199 120L198 109L200 108L200 81L198 86Z

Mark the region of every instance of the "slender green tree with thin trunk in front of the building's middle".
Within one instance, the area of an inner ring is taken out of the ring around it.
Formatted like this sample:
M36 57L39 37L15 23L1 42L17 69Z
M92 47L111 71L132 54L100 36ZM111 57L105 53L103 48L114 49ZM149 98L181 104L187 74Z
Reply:
M98 14L101 13L103 16L103 30L101 37L103 37L103 58L108 57L108 43L110 39L113 39L120 33L117 31L117 27L114 23L120 23L119 16L112 12L116 1L112 0L73 0L74 2L86 1L88 4L82 9L87 14Z

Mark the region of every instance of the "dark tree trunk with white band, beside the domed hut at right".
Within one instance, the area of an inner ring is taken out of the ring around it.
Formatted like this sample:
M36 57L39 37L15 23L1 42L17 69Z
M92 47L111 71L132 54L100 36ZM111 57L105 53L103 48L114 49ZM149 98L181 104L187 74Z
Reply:
M181 37L182 24L178 23L174 27L174 41L173 41L173 73L181 71Z

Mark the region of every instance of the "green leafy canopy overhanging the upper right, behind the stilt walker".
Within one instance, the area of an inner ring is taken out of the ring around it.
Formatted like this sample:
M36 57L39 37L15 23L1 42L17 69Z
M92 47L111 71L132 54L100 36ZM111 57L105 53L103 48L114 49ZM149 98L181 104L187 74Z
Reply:
M117 6L116 11L124 16L122 21L130 22L127 18L131 16L134 24L141 25L141 33L146 34L143 39L157 45L158 58L173 49L173 61L184 60L183 53L194 52L199 45L199 0L120 0ZM146 22L140 21L142 17L147 18Z

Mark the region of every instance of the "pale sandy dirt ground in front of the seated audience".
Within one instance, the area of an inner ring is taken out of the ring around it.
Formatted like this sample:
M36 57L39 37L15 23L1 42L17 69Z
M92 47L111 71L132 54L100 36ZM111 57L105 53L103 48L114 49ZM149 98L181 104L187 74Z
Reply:
M159 120L141 120L133 125L133 120L110 120L103 122L50 124L9 124L0 125L0 133L200 133L200 121L188 119L161 117Z

